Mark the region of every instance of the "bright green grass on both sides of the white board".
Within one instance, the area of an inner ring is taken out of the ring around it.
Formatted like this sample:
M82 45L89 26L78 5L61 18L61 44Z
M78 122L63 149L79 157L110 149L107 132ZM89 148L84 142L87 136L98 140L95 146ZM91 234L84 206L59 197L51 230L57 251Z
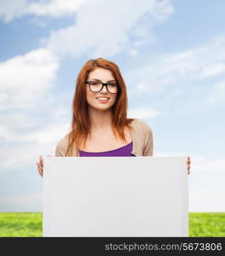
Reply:
M42 236L42 212L0 212L0 237ZM190 212L189 236L225 237L225 212Z

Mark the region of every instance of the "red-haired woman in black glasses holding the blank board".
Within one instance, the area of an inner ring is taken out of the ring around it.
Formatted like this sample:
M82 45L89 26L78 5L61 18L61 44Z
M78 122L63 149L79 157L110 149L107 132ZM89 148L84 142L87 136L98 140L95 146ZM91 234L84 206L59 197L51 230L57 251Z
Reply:
M78 74L72 100L72 129L55 156L153 156L153 132L127 118L126 85L113 61L89 60ZM187 157L187 173L191 160ZM43 157L37 162L43 177Z

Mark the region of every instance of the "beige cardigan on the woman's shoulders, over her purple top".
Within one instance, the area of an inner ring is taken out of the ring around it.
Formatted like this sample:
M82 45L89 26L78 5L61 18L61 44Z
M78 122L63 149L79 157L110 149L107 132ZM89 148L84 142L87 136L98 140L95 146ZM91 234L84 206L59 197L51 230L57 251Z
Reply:
M153 131L145 122L141 119L134 119L130 126L134 128L134 131L130 129L133 150L131 154L136 156L153 156ZM62 137L55 148L55 156L65 156L68 145L68 134ZM78 156L78 155L72 155Z

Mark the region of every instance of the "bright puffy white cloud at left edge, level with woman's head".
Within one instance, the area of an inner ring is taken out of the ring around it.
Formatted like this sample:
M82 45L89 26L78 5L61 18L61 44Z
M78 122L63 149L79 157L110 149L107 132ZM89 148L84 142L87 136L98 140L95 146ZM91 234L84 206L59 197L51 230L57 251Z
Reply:
M0 63L0 110L33 108L55 79L57 57L35 49Z

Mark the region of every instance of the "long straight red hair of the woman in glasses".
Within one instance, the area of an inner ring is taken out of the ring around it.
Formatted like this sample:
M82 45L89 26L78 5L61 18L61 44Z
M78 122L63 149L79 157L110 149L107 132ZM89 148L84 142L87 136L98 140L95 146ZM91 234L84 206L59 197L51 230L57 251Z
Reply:
M112 107L112 130L114 136L119 137L124 143L126 143L124 128L127 126L129 129L132 129L132 127L130 127L130 123L134 119L127 118L128 98L126 85L118 66L113 61L107 61L103 58L89 60L78 73L76 90L72 99L72 131L70 131L68 137L69 143L66 150L66 156L72 156L74 144L77 144L76 153L78 155L78 148L82 148L82 145L85 147L86 139L90 135L91 124L89 121L88 103L86 101L85 81L88 79L89 73L97 67L111 71L118 86L118 94Z

